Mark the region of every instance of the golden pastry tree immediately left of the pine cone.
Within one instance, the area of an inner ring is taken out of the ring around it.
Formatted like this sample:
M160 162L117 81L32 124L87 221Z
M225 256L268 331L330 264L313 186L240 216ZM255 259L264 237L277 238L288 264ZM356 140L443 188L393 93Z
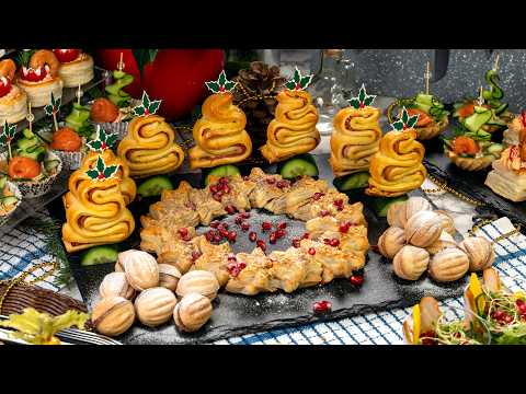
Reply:
M190 150L192 169L231 164L252 153L244 129L247 116L232 104L230 93L213 94L203 103L203 117L194 125L196 146Z

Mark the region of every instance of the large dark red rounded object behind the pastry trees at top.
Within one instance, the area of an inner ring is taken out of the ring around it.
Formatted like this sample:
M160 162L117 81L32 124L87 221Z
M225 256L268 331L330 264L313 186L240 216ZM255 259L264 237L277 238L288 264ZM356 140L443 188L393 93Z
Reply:
M125 91L140 99L146 90L150 99L162 100L159 115L180 118L194 109L207 94L206 81L216 80L225 66L222 49L159 49L156 59L145 66L142 77L130 49L105 49L99 65L114 70L123 53L124 71L135 81Z

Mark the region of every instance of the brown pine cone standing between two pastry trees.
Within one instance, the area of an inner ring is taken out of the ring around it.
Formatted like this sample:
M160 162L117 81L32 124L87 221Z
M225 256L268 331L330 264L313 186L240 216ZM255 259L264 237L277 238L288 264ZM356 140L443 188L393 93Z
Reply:
M240 70L235 80L238 85L233 102L247 115L247 131L252 138L255 151L266 142L266 127L274 118L276 95L284 88L286 79L279 74L278 66L268 67L262 61L253 61L250 69ZM262 96L264 99L261 99ZM249 97L254 99L247 100Z

